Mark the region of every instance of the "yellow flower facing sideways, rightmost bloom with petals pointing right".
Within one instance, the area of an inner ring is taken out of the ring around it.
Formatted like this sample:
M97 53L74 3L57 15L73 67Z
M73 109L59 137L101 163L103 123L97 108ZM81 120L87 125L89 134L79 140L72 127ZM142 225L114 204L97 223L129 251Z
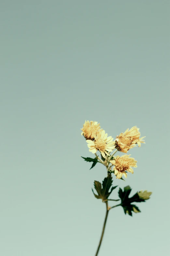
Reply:
M145 143L144 140L142 140L145 136L142 138L139 137L139 128L134 126L130 130L127 129L124 133L122 132L120 135L116 136L115 147L119 151L127 153L130 148L136 146L136 143L139 147L141 146L141 143Z

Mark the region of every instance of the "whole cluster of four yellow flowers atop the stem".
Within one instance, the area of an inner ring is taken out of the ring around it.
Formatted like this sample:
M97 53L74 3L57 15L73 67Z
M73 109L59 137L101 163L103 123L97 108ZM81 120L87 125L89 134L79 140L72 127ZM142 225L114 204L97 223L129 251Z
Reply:
M81 130L81 135L85 137L88 143L89 151L93 154L96 154L97 151L101 152L103 158L106 159L106 167L116 175L116 179L121 179L123 175L127 178L127 172L134 173L132 167L137 167L137 161L130 157L131 155L115 157L113 155L116 151L127 153L136 144L140 147L141 143L145 143L143 140L145 137L140 138L139 128L134 126L130 130L127 129L125 132L121 132L120 135L116 136L115 140L113 140L112 136L107 137L105 130L100 129L100 123L98 124L95 121L85 121ZM116 148L116 151L110 156L109 153L114 148ZM109 166L109 163L111 163L111 166ZM111 170L113 165L113 170Z

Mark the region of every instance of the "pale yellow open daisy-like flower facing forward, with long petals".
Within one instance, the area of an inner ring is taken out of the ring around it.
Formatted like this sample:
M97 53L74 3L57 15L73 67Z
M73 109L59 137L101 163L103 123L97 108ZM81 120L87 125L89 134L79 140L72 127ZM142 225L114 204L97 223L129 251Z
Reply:
M86 140L88 143L89 151L95 154L99 150L104 158L109 156L108 152L111 152L115 148L115 142L112 136L107 137L107 133L103 129L97 131L94 134L94 140ZM106 155L105 155L106 154Z

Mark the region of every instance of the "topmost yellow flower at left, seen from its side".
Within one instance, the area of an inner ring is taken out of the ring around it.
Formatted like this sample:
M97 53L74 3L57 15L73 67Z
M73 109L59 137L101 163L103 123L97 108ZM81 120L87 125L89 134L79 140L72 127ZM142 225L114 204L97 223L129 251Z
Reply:
M81 135L84 135L86 140L94 140L94 134L96 135L97 131L100 129L100 123L93 121L85 121Z

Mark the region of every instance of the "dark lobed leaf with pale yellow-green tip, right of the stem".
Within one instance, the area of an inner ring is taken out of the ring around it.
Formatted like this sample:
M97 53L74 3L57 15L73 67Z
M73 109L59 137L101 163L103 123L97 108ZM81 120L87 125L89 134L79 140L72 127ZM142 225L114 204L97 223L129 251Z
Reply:
M151 192L148 191L140 191L137 192L134 196L129 197L131 193L130 186L124 187L124 191L122 189L119 189L119 197L121 199L121 206L123 207L124 213L128 213L130 216L132 216L132 212L134 213L140 213L139 208L132 204L133 202L145 202L145 200L149 199L149 196L151 195Z

